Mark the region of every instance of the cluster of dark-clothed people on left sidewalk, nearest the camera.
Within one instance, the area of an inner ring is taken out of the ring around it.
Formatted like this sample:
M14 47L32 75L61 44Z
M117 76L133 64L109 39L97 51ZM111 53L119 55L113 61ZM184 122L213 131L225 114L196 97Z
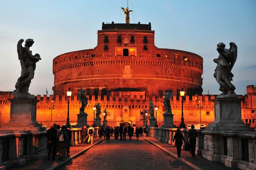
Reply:
M59 160L64 161L66 155L70 153L70 140L71 140L71 130L67 125L53 124L53 126L47 130L46 133L48 141L48 157L50 160L52 155L52 160L55 160L57 149L59 152Z

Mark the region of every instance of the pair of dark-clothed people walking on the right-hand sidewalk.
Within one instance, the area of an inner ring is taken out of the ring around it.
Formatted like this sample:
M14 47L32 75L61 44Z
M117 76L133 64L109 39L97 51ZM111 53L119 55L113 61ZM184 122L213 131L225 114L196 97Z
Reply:
M187 141L189 141L189 146L190 146L190 151L192 157L195 157L195 150L196 150L196 141L197 141L197 130L195 130L195 126L191 125L191 129L188 131L188 138ZM178 128L174 137L173 137L173 142L175 141L175 145L177 148L177 154L178 158L181 157L181 147L183 145L183 141L185 141L184 136L181 133L181 130Z

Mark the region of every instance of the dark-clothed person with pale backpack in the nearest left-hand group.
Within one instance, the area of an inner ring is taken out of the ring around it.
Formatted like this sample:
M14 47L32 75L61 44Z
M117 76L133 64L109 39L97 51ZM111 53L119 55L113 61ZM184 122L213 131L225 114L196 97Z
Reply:
M61 126L61 131L57 134L58 139L58 149L59 149L59 160L64 161L64 157L66 154L66 149L69 144L69 136L66 131L66 126Z

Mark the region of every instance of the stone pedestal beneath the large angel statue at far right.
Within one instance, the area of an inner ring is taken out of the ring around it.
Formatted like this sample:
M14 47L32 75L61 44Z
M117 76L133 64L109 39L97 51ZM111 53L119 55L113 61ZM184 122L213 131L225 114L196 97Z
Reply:
M239 98L217 98L214 102L213 123L206 130L216 131L250 131L241 117L241 100Z

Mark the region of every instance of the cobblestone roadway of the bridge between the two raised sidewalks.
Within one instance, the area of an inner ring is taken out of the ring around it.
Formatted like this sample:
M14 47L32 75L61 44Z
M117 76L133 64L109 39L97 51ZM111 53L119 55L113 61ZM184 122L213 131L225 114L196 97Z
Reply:
M179 160L140 138L103 141L59 170L188 170Z

